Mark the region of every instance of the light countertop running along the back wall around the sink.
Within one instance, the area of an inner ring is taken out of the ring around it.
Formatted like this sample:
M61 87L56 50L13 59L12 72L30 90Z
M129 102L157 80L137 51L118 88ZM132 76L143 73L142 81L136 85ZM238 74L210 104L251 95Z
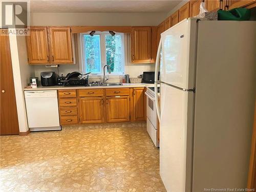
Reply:
M42 87L42 86L38 86L37 88L24 88L24 91L70 90L70 89L106 89L106 88L138 88L138 87L154 87L154 84L151 84L151 83L123 83L122 86L95 86L95 87L86 87L86 86L74 86L74 87L49 86L49 87Z

